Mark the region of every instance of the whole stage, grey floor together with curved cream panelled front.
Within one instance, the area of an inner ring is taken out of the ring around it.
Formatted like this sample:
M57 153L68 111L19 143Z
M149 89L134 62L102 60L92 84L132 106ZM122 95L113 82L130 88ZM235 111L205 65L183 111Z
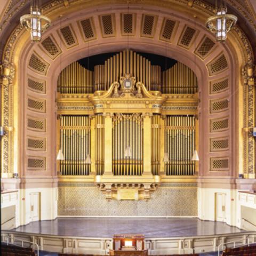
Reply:
M197 218L57 218L2 230L2 241L9 237L49 252L108 255L114 234L143 234L148 255L213 252L222 243L242 245L247 238L256 242L256 231Z

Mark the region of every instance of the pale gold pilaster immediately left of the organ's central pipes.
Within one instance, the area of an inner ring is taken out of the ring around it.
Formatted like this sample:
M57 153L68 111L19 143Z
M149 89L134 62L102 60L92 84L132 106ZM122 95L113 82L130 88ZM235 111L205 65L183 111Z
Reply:
M105 151L105 170L104 175L112 175L112 113L104 113L105 129L104 129L104 151Z

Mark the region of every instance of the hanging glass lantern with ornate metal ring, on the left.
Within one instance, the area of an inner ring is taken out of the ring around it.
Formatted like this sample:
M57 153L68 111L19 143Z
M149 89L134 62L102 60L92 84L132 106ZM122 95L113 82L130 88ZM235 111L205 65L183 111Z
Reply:
M30 14L20 17L21 25L30 31L30 38L33 42L41 41L42 33L51 26L51 20L41 14L39 1L32 0Z

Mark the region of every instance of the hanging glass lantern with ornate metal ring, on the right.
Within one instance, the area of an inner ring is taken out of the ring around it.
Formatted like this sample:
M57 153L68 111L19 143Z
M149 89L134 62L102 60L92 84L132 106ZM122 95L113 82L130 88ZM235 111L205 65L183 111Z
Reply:
M217 42L225 42L227 34L231 28L236 25L237 17L233 14L227 14L226 2L220 0L220 6L218 7L218 1L215 1L215 15L208 18L205 22L206 28L213 34Z

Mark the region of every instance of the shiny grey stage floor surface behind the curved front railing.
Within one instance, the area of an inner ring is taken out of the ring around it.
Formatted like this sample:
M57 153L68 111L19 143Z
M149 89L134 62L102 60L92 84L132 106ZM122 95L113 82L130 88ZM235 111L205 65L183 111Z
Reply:
M114 234L143 234L161 238L229 234L244 230L223 222L197 218L57 218L30 222L12 231L102 238L111 238Z

